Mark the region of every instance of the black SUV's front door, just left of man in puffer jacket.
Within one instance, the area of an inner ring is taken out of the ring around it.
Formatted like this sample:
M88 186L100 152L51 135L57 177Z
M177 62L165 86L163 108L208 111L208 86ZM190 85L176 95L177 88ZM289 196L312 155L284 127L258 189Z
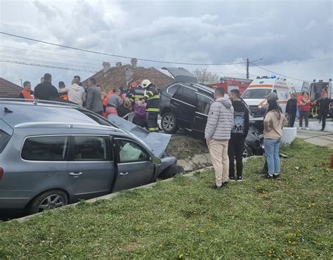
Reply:
M195 111L195 120L192 129L204 133L206 128L207 118L211 104L214 103L212 98L197 93L197 109Z

